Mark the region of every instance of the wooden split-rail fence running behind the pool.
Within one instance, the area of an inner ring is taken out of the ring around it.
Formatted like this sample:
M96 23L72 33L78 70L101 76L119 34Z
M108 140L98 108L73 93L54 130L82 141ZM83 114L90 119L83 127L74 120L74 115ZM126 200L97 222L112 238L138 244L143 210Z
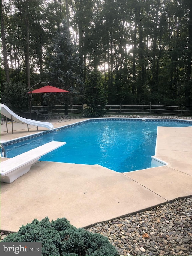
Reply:
M80 114L87 105L77 104L72 107L68 105L69 114ZM48 106L33 106L35 109L48 108ZM187 106L164 106L164 105L106 105L107 114L168 114L180 116L192 116L192 107ZM54 113L64 113L64 105L55 105L52 108Z

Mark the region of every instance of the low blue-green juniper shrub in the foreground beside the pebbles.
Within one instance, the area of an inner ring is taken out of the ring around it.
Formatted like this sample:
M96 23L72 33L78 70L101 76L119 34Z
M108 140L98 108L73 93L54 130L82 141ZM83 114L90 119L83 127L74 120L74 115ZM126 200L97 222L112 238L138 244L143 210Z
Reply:
M66 218L34 219L3 242L41 242L42 256L117 256L107 237L76 228Z

